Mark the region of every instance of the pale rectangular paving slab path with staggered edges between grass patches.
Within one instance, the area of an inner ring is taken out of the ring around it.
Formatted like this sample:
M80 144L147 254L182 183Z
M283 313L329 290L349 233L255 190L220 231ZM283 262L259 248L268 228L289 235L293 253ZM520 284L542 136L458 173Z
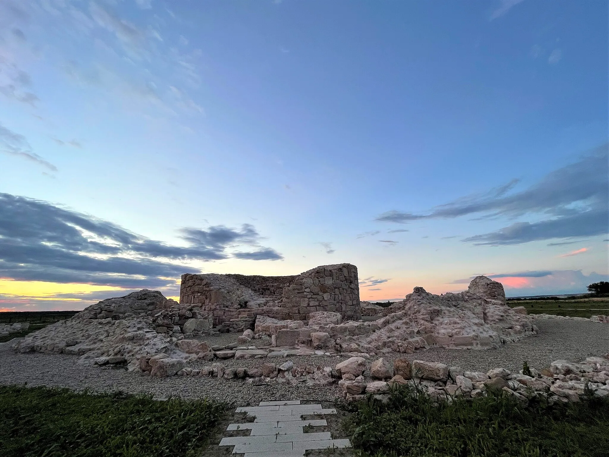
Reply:
M222 438L220 446L234 446L233 454L244 457L303 456L309 449L351 447L348 439L332 439L329 431L305 433L303 427L328 425L325 419L302 420L305 414L336 414L322 405L301 405L300 400L261 402L259 406L237 408L254 422L231 423L227 431L251 430L250 436Z

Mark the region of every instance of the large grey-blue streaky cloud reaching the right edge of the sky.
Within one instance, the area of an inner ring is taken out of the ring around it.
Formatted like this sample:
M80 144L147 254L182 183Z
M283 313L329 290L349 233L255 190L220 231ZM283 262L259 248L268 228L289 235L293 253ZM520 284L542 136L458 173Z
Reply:
M512 192L518 180L487 193L462 197L440 205L428 214L387 211L377 221L406 223L423 219L452 219L482 214L483 219L541 219L515 222L496 232L470 236L474 244L521 244L551 238L578 238L608 232L608 146L597 147L576 163L548 173L523 191Z

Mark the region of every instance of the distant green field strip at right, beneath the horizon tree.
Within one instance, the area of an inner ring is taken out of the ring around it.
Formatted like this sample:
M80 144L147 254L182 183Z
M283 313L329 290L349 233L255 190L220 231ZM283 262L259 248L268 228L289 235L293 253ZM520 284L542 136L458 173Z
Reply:
M574 300L508 300L510 307L524 306L529 314L590 317L609 314L609 297Z

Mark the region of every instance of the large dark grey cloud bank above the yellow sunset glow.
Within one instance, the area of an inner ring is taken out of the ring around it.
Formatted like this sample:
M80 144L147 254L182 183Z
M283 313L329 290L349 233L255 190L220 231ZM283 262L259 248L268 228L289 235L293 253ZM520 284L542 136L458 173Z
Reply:
M199 272L179 261L282 258L259 246L261 238L250 224L240 229L182 228L179 233L187 246L154 241L48 202L0 193L0 277L156 288L183 273ZM243 245L256 251L233 252Z

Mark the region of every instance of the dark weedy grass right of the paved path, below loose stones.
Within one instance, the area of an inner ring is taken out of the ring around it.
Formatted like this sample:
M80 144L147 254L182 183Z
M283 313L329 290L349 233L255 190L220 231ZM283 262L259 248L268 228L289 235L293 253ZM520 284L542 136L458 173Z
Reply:
M347 405L343 423L354 447L375 457L607 457L609 401L523 406L509 394L452 403L393 389L387 404Z

